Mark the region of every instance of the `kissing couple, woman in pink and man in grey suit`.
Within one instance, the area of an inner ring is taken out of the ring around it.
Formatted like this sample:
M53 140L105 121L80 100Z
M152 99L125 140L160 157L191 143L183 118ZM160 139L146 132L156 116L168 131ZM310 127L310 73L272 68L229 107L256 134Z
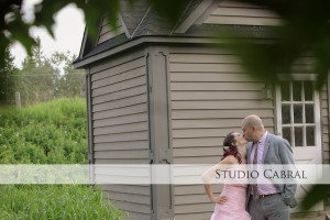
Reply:
M215 196L210 179L220 167L248 164L294 165L289 143L267 132L260 117L251 114L242 121L242 134L230 132L223 141L223 157L216 166L202 174L206 193L216 202L211 220L288 220L290 208L297 206L296 184L248 184L239 182L224 187Z

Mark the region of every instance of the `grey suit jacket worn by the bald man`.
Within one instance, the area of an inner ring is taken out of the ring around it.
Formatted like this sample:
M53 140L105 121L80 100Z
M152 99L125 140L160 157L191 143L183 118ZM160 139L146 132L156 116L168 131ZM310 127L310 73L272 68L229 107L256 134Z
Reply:
M253 143L249 142L246 145L248 164L250 161ZM268 133L263 154L263 164L295 164L293 150L289 143L279 136ZM297 206L295 198L297 185L296 184L274 184L277 190L282 195L283 201L292 208ZM251 186L248 187L248 200L246 206L251 196Z

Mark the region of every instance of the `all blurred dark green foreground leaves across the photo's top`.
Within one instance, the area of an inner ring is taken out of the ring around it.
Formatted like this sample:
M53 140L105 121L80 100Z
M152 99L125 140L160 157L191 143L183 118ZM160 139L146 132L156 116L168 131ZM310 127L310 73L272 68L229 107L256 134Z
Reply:
M127 0L134 7L138 0ZM182 12L188 6L189 0L145 0L153 9L173 26L177 24ZM243 64L250 74L262 78L276 80L277 74L285 70L292 73L292 64L301 55L308 53L315 57L314 73L318 74L317 86L324 82L330 67L330 2L327 0L241 0L242 2L260 4L277 13L283 25L272 28L276 41L260 44L255 36L248 36L244 43L235 41L231 48L240 52ZM45 26L51 35L54 24L53 14L69 3L75 3L85 14L88 33L95 38L98 32L98 22L103 14L108 14L110 24L114 28L120 10L120 0L96 1L52 1L44 0L35 6L35 19L25 21L20 11L22 0L4 0L1 2L1 34L0 54L10 42L19 41L32 52L34 40L29 36L31 26ZM176 7L172 7L172 6ZM226 34L227 35L227 34ZM227 35L228 36L228 35ZM238 33L230 34L230 38L246 38ZM233 37L232 37L233 36ZM223 40L223 35L218 36ZM243 48L243 50L242 50ZM243 53L242 53L243 52ZM248 52L248 53L244 53ZM0 66L3 66L3 57L0 57Z

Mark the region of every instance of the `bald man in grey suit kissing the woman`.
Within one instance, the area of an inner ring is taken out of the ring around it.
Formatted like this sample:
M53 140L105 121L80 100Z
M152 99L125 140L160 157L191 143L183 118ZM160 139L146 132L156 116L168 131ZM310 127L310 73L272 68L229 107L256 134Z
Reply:
M295 164L289 143L268 133L262 120L249 116L242 121L246 145L248 164ZM256 151L255 151L256 150ZM297 206L295 198L297 185L273 184L249 185L248 211L252 220L288 220L289 207Z

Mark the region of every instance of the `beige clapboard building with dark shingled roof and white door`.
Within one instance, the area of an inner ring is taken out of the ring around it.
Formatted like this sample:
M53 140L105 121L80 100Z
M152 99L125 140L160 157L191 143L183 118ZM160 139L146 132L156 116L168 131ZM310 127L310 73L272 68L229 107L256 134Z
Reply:
M145 2L131 9L123 1L119 29L103 18L97 42L85 33L74 64L87 73L89 163L216 164L223 136L255 113L290 141L297 163L329 164L329 90L312 89L308 57L297 62L294 81L270 87L246 75L235 54L213 47L221 28L267 38L263 25L280 25L276 14L231 0L191 0L173 28ZM131 219L206 220L213 210L200 185L102 189Z

